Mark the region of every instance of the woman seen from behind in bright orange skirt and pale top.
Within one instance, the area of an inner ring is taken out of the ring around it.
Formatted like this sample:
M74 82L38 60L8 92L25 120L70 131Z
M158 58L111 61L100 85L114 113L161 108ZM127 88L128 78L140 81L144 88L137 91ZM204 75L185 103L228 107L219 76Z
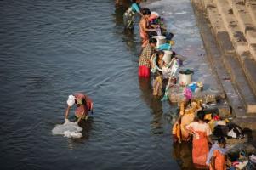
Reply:
M211 142L209 136L212 134L212 131L208 123L203 122L204 116L204 111L198 111L198 122L191 122L186 126L186 129L193 134L192 158L196 168L208 167L206 165L209 152L208 142Z

